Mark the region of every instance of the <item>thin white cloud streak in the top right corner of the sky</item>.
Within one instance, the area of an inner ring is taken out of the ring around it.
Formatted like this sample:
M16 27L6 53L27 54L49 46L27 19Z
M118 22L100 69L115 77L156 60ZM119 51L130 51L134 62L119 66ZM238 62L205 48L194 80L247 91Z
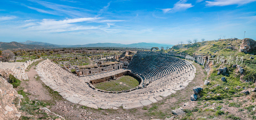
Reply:
M227 6L227 5L243 5L252 3L256 0L213 0L213 1L205 1L206 6Z

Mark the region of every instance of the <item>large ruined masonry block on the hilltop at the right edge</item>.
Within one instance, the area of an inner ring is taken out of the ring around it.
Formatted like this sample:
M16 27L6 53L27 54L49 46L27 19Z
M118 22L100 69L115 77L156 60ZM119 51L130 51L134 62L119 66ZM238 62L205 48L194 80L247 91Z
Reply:
M239 52L250 53L256 50L256 41L253 39L245 38L242 40Z

